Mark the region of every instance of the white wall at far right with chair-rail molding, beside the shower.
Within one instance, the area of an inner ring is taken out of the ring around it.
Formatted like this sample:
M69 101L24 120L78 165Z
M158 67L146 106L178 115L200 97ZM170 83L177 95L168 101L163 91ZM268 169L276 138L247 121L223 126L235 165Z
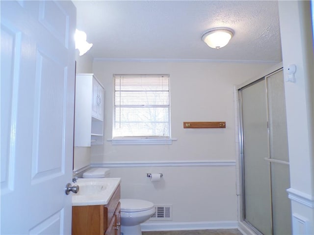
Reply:
M295 83L285 83L292 232L314 234L314 47L310 1L279 1L279 17L284 70L290 64L296 65Z

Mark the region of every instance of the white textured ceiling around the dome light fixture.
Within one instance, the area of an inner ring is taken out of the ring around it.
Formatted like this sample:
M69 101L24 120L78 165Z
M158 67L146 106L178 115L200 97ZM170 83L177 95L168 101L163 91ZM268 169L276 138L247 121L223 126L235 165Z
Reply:
M77 28L93 43L87 52L108 60L282 60L278 2L73 1ZM230 43L209 48L201 37L212 27L235 31Z

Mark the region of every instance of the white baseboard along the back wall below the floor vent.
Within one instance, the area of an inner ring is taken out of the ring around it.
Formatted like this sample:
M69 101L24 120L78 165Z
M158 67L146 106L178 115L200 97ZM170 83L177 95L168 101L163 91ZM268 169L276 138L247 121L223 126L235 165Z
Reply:
M205 221L182 223L143 223L142 231L180 231L180 230L204 230L204 229L237 229L237 221Z

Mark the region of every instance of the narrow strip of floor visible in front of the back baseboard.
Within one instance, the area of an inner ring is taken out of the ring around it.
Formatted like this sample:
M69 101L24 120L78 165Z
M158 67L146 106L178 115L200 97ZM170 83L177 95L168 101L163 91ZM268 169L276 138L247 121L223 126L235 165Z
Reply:
M142 232L142 235L242 235L237 229Z

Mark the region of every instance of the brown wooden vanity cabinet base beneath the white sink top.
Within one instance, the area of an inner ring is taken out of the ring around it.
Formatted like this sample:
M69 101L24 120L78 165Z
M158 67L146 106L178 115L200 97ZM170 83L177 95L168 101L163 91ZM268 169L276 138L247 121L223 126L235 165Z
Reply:
M120 185L107 205L73 206L72 235L120 235Z

